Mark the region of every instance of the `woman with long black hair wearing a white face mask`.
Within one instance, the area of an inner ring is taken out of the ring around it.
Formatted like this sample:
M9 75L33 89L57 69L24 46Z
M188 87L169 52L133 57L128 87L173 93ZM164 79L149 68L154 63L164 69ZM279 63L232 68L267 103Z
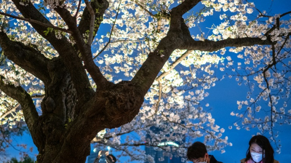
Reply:
M240 160L240 163L279 163L274 160L274 150L265 136L256 135L248 144L246 158Z

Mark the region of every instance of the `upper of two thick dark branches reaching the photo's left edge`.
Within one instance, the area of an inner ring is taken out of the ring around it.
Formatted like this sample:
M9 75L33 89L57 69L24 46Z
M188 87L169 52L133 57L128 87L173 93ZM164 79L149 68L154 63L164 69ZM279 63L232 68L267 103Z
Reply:
M51 80L47 70L49 59L40 51L23 43L11 41L3 30L0 32L0 45L4 50L4 55L22 69L32 73L44 83Z

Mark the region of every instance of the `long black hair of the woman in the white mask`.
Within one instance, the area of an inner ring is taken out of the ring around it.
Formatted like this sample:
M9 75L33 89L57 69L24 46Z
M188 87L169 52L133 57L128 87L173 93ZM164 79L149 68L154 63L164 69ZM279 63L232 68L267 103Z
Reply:
M263 135L253 136L250 140L249 147L246 154L246 160L252 159L250 148L253 143L258 144L263 149L263 163L273 163L274 162L274 150L269 142L269 140ZM264 157L265 155L265 157Z

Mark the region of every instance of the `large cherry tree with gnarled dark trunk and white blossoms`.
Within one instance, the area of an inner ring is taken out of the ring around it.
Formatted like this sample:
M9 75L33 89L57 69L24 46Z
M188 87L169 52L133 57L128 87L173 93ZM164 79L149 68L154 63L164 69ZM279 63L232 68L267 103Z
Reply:
M128 161L153 161L140 146L184 156L202 136L223 153L232 144L204 101L220 80L215 71L230 69L250 88L237 102L242 112L231 113L242 118L238 129L274 138L276 124L290 124L291 11L270 15L245 0L0 3L0 125L17 132L25 119L38 163L85 162L91 142ZM217 23L201 26L215 16Z

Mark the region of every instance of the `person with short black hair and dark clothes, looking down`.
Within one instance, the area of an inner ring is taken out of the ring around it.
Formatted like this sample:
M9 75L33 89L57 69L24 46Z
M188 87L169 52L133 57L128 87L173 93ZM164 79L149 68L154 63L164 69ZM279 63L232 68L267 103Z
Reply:
M206 146L201 142L195 142L187 149L187 158L193 163L222 163L209 155Z

